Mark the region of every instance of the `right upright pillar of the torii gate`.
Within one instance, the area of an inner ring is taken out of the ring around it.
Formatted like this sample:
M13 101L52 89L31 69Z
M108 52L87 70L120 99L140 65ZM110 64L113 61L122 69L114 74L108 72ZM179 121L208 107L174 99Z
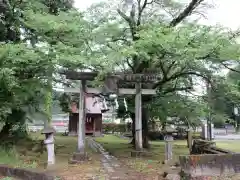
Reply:
M136 96L135 96L135 145L136 150L141 151L142 144L142 94L141 83L136 83Z

